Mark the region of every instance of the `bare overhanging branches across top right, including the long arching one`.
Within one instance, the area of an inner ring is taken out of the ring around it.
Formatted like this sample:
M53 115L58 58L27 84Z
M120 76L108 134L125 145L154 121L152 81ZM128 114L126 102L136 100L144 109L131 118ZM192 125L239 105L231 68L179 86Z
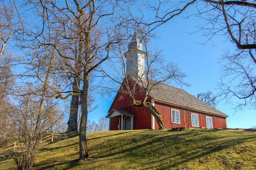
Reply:
M200 28L205 30L204 36L213 37L225 34L238 49L256 49L255 45L255 9L254 0L185 0L144 2L144 7L151 12L150 18L134 18L137 24L147 25L153 30L160 25L186 13L189 7L195 6L198 13L189 13L187 17L196 15L207 20ZM171 4L171 7L166 4ZM143 13L143 11L141 11Z

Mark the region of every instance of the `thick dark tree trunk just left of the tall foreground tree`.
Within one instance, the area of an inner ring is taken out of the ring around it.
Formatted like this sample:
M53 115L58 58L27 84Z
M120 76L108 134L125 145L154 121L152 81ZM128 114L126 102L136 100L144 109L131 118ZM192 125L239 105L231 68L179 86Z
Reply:
M80 88L80 80L74 78L73 91L78 91ZM70 118L67 122L67 131L74 132L77 130L79 96L73 95L70 103Z

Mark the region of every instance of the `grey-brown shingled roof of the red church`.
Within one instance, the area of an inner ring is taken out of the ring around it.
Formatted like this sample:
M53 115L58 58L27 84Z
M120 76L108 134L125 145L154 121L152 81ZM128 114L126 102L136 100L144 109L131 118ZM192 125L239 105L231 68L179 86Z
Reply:
M159 83L157 86L155 86L151 90L150 96L153 99L164 101L170 104L228 117L227 114L220 112L207 103L204 103L185 90L173 87L171 85L166 85L164 83Z

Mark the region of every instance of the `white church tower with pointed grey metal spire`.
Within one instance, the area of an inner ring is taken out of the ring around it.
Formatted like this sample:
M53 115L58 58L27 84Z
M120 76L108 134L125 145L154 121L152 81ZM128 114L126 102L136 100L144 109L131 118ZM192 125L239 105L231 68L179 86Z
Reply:
M139 41L136 31L132 41L128 45L128 51L124 54L126 57L126 74L138 78L145 79L145 51L142 49L142 43Z

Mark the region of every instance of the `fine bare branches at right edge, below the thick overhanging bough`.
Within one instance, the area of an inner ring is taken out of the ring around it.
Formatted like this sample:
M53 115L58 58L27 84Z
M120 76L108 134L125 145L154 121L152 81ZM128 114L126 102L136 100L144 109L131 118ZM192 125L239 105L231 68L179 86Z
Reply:
M218 86L222 99L230 102L230 99L235 96L240 99L239 103L235 103L236 110L242 110L245 107L255 109L256 64L249 57L248 51L239 51L238 54L227 52L220 63L222 78Z

